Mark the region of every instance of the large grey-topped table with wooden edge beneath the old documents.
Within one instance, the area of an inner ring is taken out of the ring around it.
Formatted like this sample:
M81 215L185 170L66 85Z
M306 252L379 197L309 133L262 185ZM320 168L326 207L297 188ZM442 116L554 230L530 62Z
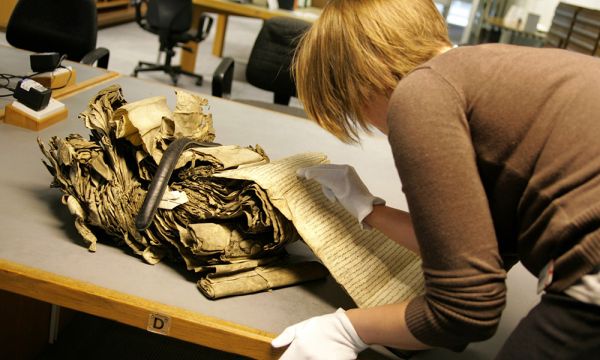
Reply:
M353 307L331 279L272 292L208 300L196 288L193 274L165 263L154 266L106 241L90 253L82 244L61 193L50 189L51 176L41 164L36 138L89 133L77 114L96 92L113 83L128 101L164 95L171 108L174 88L130 77L111 79L61 99L69 119L40 132L0 124L0 289L59 306L148 329L153 316L170 322L167 336L258 359L278 356L270 346L285 327L312 316ZM325 152L333 163L355 166L373 193L390 206L406 209L387 139L366 137L362 146L340 143L305 119L207 96L216 141L260 144L271 159ZM288 246L292 256L313 258L300 242ZM415 359L489 359L523 314L537 301L535 281L522 268L509 274L509 299L499 331L466 353L432 350ZM519 293L517 302L511 294ZM2 304L0 304L0 307ZM361 358L393 356L382 348Z

